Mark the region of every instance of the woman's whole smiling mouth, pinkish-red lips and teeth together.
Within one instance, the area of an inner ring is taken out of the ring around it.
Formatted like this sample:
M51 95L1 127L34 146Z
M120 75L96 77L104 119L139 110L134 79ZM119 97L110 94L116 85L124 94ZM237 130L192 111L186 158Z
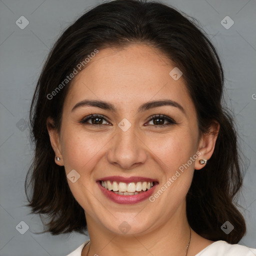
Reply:
M97 180L106 198L119 204L134 204L148 198L158 181L145 177L109 176Z

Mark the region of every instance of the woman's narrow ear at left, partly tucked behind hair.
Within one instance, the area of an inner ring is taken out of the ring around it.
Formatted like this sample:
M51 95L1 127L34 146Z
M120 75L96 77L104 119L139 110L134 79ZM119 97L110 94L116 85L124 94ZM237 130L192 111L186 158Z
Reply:
M55 152L55 163L62 166L63 165L63 157L61 153L61 146L59 142L59 132L55 127L54 121L51 117L48 117L46 120L47 131L50 137L50 143L52 149ZM57 161L56 157L59 157L59 161Z

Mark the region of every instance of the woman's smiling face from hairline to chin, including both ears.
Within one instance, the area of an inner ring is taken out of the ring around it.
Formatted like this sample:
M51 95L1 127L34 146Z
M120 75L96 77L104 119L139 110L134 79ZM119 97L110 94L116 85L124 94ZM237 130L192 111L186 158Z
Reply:
M199 137L174 67L145 45L100 50L72 81L60 133L49 130L73 196L102 230L142 234L185 217L194 168L214 139Z

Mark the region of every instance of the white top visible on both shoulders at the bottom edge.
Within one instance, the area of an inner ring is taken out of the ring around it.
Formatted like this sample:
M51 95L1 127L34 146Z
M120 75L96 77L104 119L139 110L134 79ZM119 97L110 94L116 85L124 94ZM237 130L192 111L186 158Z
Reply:
M81 256L82 248L89 240L66 256ZM215 241L194 256L256 256L256 249L225 241Z

